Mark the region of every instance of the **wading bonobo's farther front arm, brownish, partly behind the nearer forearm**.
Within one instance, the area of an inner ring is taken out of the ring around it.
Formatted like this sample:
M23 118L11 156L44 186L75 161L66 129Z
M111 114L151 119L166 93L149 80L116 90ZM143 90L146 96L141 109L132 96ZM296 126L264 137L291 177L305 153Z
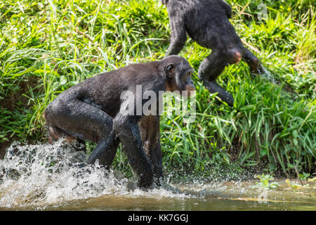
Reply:
M162 148L160 146L159 115L148 115L138 122L143 148L147 158L154 167L154 182L160 186L160 178L164 178L162 172Z

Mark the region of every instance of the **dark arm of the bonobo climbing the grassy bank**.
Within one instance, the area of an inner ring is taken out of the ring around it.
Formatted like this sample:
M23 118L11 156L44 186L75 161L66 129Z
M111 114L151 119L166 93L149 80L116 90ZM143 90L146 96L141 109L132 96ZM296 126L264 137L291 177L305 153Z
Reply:
M178 15L176 10L170 7L168 8L170 29L171 29L171 40L170 46L166 51L166 56L177 55L183 46L187 35L185 33L185 18L184 15Z

